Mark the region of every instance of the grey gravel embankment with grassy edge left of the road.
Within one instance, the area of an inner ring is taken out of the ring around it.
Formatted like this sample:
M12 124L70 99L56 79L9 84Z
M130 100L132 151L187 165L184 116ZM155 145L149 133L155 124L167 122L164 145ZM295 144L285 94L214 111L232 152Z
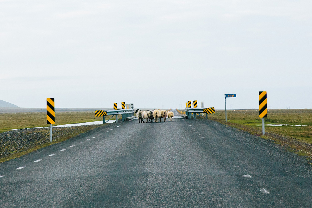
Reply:
M52 141L61 142L102 125L53 127ZM48 143L50 143L50 128L29 128L2 132L0 133L0 159Z

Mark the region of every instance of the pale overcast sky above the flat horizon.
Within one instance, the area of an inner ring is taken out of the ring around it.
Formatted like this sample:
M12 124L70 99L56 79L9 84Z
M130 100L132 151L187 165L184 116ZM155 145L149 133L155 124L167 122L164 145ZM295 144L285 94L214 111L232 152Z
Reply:
M0 0L0 72L19 107L312 108L312 1Z

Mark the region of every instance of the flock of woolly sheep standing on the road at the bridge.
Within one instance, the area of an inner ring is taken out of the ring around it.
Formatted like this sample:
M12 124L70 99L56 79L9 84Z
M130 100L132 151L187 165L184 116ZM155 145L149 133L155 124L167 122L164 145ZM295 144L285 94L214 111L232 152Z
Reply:
M147 110L141 111L141 109L137 109L135 111L137 118L139 119L139 123L148 123L148 122L158 122L158 119L163 118L163 121L166 122L166 117L168 116L169 121L173 121L173 112L168 110Z

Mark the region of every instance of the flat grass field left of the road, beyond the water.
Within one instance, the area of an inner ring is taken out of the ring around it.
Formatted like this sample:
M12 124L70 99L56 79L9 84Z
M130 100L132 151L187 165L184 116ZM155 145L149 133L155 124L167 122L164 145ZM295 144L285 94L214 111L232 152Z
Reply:
M109 119L111 116L105 116L105 119ZM93 112L56 112L55 124L71 124L82 123L92 121L102 121L103 117L95 117ZM112 118L115 120L115 116ZM0 113L0 132L7 131L9 129L21 129L32 127L44 127L50 126L46 124L46 113Z

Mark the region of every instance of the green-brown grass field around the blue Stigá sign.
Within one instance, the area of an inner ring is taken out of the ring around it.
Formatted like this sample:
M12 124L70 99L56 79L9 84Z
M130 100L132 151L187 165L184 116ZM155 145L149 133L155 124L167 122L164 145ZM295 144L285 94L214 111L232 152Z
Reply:
M208 115L208 118L262 135L262 119L259 118L259 110L227 110L227 122L225 122L224 110L216 111L215 114ZM312 143L312 109L270 109L265 124L266 132L275 132ZM267 126L267 124L285 125Z

